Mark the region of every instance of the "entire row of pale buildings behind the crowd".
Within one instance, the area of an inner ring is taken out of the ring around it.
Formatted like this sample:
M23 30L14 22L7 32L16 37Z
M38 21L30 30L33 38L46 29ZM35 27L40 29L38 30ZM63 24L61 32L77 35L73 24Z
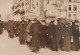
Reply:
M17 0L13 4L14 20L79 19L80 0Z

